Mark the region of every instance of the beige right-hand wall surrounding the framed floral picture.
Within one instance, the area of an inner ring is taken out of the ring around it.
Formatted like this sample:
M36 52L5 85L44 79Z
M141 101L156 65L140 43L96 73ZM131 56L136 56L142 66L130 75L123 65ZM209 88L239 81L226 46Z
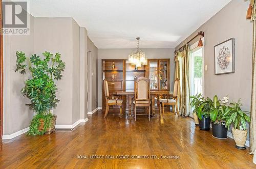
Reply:
M233 0L190 35L205 32L204 62L205 96L220 98L228 95L230 101L242 98L245 110L250 110L252 78L252 23L245 19L249 2ZM215 75L214 46L229 38L235 40L235 73ZM176 47L178 49L181 46Z

